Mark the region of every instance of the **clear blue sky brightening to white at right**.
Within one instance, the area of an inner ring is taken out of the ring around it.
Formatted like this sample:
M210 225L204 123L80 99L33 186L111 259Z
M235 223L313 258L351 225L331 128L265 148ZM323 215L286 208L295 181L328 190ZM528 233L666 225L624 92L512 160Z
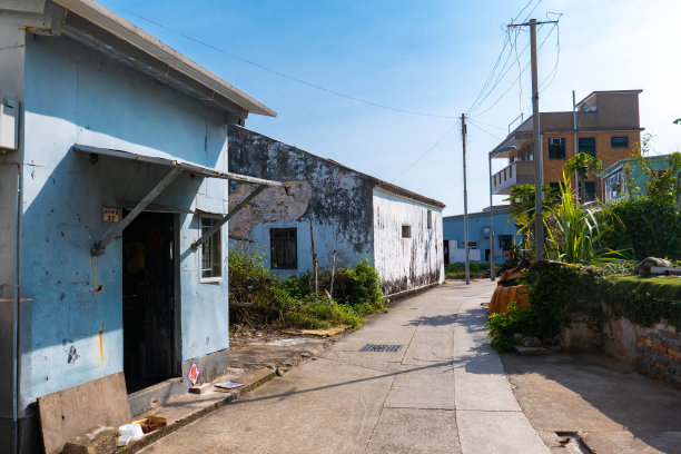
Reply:
M461 115L473 213L490 205L487 152L532 112L530 33L505 27L514 18L560 22L537 31L541 111L571 110L572 90L642 89L653 152L681 150L678 0L98 1L277 111L248 129L445 215L464 206Z

